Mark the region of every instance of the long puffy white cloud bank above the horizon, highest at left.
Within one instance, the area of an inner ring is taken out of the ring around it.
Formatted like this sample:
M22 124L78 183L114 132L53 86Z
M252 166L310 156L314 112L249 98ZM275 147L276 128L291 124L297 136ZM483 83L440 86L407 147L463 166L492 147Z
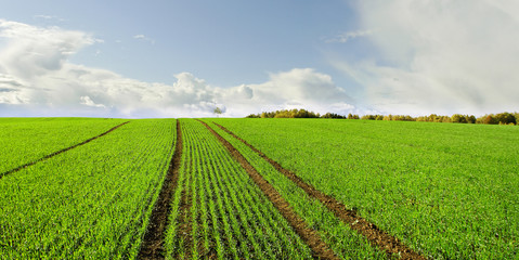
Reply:
M143 82L68 62L93 36L1 21L0 116L206 117L304 107L351 110L351 99L311 68L273 73L267 82L217 88L190 73L174 82Z

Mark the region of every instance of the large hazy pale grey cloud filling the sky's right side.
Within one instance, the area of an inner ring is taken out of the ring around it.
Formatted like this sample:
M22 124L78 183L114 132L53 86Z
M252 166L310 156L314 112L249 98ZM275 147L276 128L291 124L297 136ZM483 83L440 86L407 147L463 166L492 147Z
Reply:
M402 114L517 110L517 1L358 1L381 56L333 64Z

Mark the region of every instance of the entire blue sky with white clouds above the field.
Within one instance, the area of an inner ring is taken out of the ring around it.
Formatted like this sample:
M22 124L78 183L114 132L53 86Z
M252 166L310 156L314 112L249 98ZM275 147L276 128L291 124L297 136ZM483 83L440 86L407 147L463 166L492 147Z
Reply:
M0 116L519 110L519 1L0 0Z

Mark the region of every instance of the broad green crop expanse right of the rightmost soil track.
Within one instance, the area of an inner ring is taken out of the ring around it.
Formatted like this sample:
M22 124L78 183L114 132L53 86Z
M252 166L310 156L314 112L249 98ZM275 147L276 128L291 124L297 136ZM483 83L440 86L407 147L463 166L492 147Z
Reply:
M215 121L425 256L518 256L519 129L323 119Z

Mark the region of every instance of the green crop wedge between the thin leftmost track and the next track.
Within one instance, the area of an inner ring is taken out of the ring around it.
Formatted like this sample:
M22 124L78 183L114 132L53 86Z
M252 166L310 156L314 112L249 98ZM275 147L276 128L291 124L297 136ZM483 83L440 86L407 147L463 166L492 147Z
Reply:
M171 159L174 126L132 120L3 177L1 258L134 258Z

